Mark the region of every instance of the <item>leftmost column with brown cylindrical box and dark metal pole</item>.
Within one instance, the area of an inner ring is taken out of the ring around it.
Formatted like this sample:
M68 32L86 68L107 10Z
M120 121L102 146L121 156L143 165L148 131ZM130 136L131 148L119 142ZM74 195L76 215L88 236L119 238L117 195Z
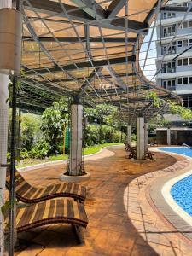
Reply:
M11 0L0 1L0 87L3 87L3 96L0 101L0 144L3 144L3 153L1 153L0 162L6 166L7 153L7 134L8 132L8 105L4 102L8 100L9 74L20 74L20 57L21 57L21 38L22 38L22 15L19 11L20 1L16 1L16 9L11 9ZM6 82L5 82L6 81ZM13 97L12 97L12 125L11 125L11 165L10 165L10 193L9 193L9 256L14 255L14 223L15 223L15 128L16 128L16 82L17 77L13 80ZM6 131L7 130L7 131ZM2 137L4 136L4 137ZM1 149L1 148L0 148ZM2 189L5 185L5 170L0 174ZM3 192L1 192L3 193ZM3 195L1 195L3 200ZM1 214L1 213L0 213ZM2 216L1 216L2 219ZM3 235L3 227L1 226ZM1 241L1 255L3 255L3 236Z

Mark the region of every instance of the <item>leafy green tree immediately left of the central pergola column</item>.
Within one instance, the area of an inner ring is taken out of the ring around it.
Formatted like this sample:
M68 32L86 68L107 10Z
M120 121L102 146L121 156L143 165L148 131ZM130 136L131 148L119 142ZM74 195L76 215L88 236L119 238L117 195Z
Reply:
M63 136L63 131L67 126L68 108L65 98L54 102L51 108L46 108L42 115L41 130L44 137L49 142L51 149L49 154L55 154L58 143Z

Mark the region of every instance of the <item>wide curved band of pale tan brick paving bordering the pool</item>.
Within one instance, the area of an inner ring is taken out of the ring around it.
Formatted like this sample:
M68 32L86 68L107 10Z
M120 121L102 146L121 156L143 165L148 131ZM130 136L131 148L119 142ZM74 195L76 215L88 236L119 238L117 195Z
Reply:
M157 148L150 148L150 150L159 151ZM159 153L167 154L162 151ZM175 164L139 176L127 185L124 193L124 205L127 216L137 229L138 234L148 242L150 247L154 248L158 255L167 254L168 251L171 253L170 255L173 251L174 255L190 255L186 252L189 252L192 247L189 233L191 226L186 225L182 218L178 218L176 212L166 203L161 194L161 188L166 180L171 179L173 175L177 176L186 172L191 163L189 158L183 155L170 155L177 160ZM172 224L171 219L177 223L177 228Z

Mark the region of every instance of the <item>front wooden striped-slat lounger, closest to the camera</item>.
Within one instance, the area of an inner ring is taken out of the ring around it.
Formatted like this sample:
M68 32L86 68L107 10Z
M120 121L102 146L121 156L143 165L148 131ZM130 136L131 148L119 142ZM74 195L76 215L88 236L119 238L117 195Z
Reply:
M5 223L5 233L8 233L8 218L5 218ZM84 204L70 198L56 198L16 207L15 224L17 232L47 224L72 224L73 227L86 228L88 218Z

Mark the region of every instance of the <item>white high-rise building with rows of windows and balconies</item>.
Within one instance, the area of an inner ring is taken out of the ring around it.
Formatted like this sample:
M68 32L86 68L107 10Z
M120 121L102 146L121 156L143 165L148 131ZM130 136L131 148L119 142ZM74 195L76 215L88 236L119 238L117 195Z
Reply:
M192 109L192 1L168 1L156 31L156 83L175 91Z

